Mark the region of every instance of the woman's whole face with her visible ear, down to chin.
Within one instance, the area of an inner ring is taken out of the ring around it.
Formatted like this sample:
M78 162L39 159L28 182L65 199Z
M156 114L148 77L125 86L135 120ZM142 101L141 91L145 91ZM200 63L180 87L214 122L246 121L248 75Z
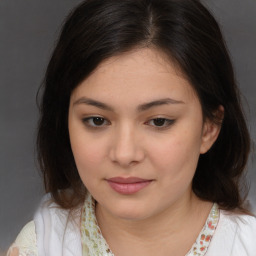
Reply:
M73 91L80 177L111 216L141 220L188 202L199 155L217 136L181 72L156 50L104 61Z

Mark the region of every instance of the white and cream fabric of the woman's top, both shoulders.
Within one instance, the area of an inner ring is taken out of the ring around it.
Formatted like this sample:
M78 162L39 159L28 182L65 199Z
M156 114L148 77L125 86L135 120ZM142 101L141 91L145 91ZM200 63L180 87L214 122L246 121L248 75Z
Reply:
M87 201L85 206L87 206L85 209L88 209L87 213L85 212L87 220L93 221L95 214L92 201ZM99 250L94 252L90 250L90 253L82 251L80 213L81 209L79 213L73 213L71 216L70 211L57 208L55 203L49 204L47 200L44 200L34 221L29 222L22 229L9 253L12 248L16 247L19 249L19 256L112 255L111 250L106 250L106 247L101 253ZM209 217L207 225L209 225ZM103 236L98 235L99 230L98 226L91 225L85 233L88 233L88 236L97 234L95 239L98 239L98 243L107 246ZM202 238L202 231L197 239L199 241ZM187 256L199 255L194 254L192 248ZM256 218L220 210L217 228L206 254L202 255L256 256Z

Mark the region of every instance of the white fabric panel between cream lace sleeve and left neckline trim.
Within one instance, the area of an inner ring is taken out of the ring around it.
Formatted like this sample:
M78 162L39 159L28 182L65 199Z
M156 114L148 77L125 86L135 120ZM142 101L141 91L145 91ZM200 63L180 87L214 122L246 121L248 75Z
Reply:
M62 209L47 194L34 217L39 253L81 255L80 215L81 208Z

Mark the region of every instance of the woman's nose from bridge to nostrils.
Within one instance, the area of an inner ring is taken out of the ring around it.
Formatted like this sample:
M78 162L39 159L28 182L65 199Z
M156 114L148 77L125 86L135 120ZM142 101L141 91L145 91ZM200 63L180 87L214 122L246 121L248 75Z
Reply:
M128 125L120 127L113 135L110 159L122 167L129 167L143 161L145 151L135 130Z

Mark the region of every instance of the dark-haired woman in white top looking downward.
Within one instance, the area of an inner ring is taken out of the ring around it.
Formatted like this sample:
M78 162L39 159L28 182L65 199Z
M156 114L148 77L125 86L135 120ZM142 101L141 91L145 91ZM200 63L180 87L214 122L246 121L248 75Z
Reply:
M46 192L10 255L255 255L250 139L198 0L86 0L42 88Z

